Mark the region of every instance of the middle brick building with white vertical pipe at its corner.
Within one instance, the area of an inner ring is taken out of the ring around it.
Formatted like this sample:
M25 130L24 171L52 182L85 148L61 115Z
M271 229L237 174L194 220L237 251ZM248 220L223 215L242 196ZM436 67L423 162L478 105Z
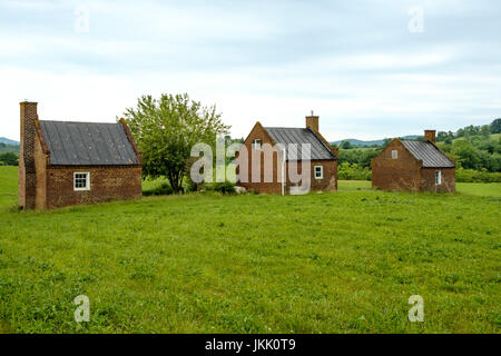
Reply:
M237 185L246 189L295 194L295 189L304 187L304 181L291 172L303 175L304 164L308 167L303 179L310 182L308 191L337 190L337 150L318 132L317 116L306 117L305 128L263 127L256 122L236 156ZM310 160L304 159L306 156Z

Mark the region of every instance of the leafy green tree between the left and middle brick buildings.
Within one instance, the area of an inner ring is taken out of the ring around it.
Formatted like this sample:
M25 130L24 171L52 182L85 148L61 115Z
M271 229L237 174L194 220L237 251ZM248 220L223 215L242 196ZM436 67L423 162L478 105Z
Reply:
M218 135L228 134L216 107L203 107L187 93L143 96L137 108L128 108L125 119L143 151L145 177L166 177L175 192L181 190L191 147L215 145Z

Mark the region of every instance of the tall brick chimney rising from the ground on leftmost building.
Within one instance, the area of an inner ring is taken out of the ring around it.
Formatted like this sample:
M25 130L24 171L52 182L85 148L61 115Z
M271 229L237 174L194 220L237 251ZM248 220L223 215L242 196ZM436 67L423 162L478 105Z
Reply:
M38 120L37 102L20 102L21 139L19 150L18 201L23 209L35 209L37 175L35 171L35 122Z

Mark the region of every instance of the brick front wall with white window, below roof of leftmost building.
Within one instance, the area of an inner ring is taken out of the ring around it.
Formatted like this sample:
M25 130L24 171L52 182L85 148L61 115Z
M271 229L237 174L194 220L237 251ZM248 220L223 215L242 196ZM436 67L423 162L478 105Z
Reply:
M73 190L73 174L90 172L90 190ZM47 168L47 208L141 198L141 167Z

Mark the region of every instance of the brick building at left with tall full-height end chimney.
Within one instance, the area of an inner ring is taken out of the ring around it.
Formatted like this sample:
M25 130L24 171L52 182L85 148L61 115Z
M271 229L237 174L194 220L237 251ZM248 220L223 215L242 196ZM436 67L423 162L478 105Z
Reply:
M50 209L141 197L141 152L125 122L39 120L21 102L19 206Z

